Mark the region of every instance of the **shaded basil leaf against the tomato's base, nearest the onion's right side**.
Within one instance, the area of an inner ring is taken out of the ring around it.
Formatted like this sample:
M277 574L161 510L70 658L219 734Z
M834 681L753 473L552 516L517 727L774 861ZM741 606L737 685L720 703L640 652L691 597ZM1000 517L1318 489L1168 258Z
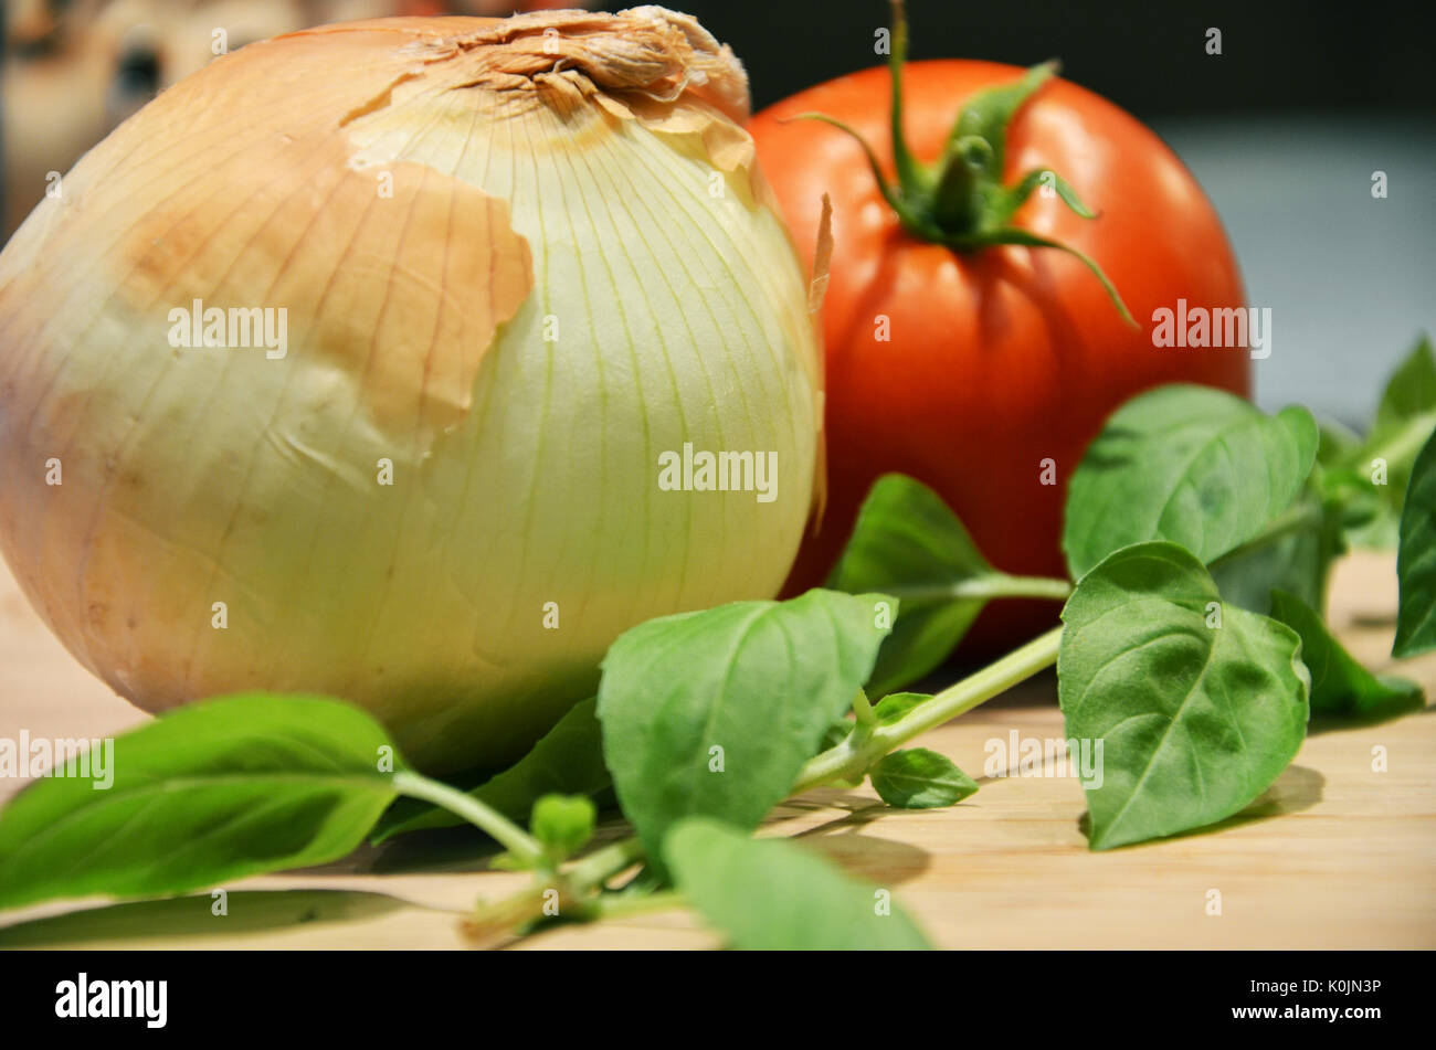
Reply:
M889 473L867 493L827 585L902 602L869 689L882 696L941 664L1005 580L936 492Z

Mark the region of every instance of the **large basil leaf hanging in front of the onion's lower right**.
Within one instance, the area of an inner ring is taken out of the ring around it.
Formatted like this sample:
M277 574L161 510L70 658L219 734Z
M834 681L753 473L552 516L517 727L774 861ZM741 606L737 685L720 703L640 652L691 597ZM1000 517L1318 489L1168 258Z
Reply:
M649 620L603 660L599 722L649 858L682 816L755 828L873 670L886 595L808 591Z

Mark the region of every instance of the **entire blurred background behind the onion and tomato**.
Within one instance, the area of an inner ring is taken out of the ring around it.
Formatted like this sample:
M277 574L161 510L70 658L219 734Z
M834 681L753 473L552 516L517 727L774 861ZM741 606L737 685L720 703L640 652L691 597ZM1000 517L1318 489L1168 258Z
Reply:
M748 69L754 106L877 65L886 0L673 0ZM89 145L228 46L317 22L514 0L6 0L6 235ZM574 6L523 0L524 7ZM590 4L593 6L593 4ZM1363 425L1436 330L1430 3L909 0L912 57L1063 60L1186 161L1226 222L1252 306L1272 310L1258 400ZM1221 55L1208 30L1221 30ZM958 102L956 99L954 100ZM1373 198L1374 172L1387 197Z

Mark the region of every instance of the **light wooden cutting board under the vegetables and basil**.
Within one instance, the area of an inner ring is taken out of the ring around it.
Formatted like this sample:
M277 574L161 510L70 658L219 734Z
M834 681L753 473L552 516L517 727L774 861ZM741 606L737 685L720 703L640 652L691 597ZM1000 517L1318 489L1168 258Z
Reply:
M1331 623L1343 641L1374 670L1399 671L1436 696L1436 654L1399 667L1387 656L1394 608L1390 557L1357 554L1337 567ZM866 786L823 789L783 806L764 833L798 835L890 888L948 948L1436 948L1433 710L1314 733L1272 789L1221 829L1107 853L1087 851L1081 789L1061 776L982 777L962 805L913 812L886 809ZM105 736L145 717L65 653L0 565L0 736ZM979 776L988 742L1014 730L1063 736L1051 677L922 743ZM1380 750L1384 770L1373 763ZM20 786L0 779L0 798ZM43 905L0 915L7 924L56 917L0 931L0 945L43 935L112 947L462 948L464 909L524 879L485 871L467 833L408 836L325 868L225 886L224 917L213 915L210 894L83 919L63 915L75 902ZM1213 891L1219 915L1209 914ZM672 912L564 927L514 947L717 944Z

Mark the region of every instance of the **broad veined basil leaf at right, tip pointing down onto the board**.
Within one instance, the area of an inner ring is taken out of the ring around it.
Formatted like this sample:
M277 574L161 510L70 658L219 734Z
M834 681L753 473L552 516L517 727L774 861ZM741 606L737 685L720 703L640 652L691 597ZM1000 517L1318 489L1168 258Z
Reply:
M1231 816L1287 767L1307 730L1307 668L1284 624L1221 602L1176 544L1109 555L1063 610L1067 736L1101 744L1083 783L1088 843L1109 849Z

